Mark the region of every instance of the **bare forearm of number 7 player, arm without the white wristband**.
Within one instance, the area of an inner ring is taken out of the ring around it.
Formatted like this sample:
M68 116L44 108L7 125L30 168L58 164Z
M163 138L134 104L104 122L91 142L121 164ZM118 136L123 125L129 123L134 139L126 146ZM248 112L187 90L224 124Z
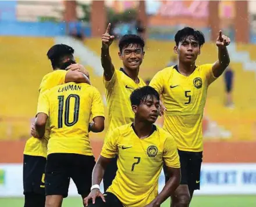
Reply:
M155 198L154 201L152 201L155 204L155 206L160 206L167 198L169 198L170 195L172 195L175 192L179 184L180 184L180 175L170 176L170 179L163 187L163 190L161 191L161 193L159 193L157 198Z

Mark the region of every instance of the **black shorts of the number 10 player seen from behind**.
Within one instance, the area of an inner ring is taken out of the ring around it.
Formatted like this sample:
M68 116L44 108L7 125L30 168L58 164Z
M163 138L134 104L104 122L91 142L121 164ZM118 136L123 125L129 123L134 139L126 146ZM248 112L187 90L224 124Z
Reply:
M66 198L71 177L78 193L86 197L91 191L94 165L93 156L71 153L49 154L45 167L45 195L62 195Z

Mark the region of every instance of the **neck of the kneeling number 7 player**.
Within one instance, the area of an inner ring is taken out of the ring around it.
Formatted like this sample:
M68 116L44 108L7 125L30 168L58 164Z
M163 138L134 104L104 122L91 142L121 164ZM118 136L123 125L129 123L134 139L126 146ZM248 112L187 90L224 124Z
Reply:
M133 129L140 139L145 139L152 134L153 125L145 121L134 120Z

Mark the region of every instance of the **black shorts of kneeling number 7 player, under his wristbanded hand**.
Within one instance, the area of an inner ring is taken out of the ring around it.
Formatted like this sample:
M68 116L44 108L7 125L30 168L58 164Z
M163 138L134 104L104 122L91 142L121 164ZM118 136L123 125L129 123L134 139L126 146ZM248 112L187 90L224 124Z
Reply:
M101 197L95 199L95 204L90 200L87 207L123 207L122 202L114 194L106 192L104 193L105 201L102 201Z

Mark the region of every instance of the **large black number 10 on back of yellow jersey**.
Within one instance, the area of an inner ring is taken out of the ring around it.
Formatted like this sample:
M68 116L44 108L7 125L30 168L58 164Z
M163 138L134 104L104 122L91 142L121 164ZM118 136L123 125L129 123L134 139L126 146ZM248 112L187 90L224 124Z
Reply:
M74 99L74 117L73 121L69 121L69 108L70 108L70 99ZM64 96L58 96L59 100L59 111L58 111L58 128L63 127L63 108L64 108ZM65 115L64 115L64 124L66 126L73 126L76 124L79 118L79 106L80 106L80 97L76 94L70 94L67 96L65 101Z

